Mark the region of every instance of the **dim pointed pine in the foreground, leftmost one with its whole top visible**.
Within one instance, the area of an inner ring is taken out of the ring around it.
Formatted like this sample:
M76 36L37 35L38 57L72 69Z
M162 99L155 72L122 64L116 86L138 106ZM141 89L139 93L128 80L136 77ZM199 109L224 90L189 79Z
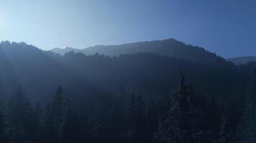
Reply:
M32 142L35 140L35 112L26 101L21 89L9 103L8 124L13 142Z

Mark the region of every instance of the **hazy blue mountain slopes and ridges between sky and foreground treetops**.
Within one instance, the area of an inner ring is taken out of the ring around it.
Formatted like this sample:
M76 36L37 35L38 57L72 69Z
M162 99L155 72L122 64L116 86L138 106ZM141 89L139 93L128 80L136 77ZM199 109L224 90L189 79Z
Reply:
M246 78L237 78L237 74L251 73L249 69L254 67L237 69L216 54L175 39L119 46L93 46L83 49L86 55L67 48L59 53L71 52L60 56L25 43L9 41L1 42L0 50L0 62L3 65L0 73L1 92L10 95L22 87L33 99L35 94L45 99L58 84L68 87L69 94L78 93L76 97L79 98L84 94L86 97L91 96L96 91L113 93L121 86L129 91L157 96L176 87L180 70L186 71L196 86L201 85L201 92L212 91L216 92L217 97L221 97L225 89L219 93L214 88L221 89L222 84L230 80L240 83L246 81ZM222 82L214 84L214 81Z

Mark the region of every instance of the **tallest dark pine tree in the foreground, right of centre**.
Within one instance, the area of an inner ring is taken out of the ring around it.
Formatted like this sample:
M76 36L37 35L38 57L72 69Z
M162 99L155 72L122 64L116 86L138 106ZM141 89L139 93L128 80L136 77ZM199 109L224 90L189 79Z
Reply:
M201 102L193 95L191 87L184 82L185 76L180 75L180 87L172 93L172 101L167 114L160 118L155 134L157 143L193 143L205 142L206 135L201 129Z

